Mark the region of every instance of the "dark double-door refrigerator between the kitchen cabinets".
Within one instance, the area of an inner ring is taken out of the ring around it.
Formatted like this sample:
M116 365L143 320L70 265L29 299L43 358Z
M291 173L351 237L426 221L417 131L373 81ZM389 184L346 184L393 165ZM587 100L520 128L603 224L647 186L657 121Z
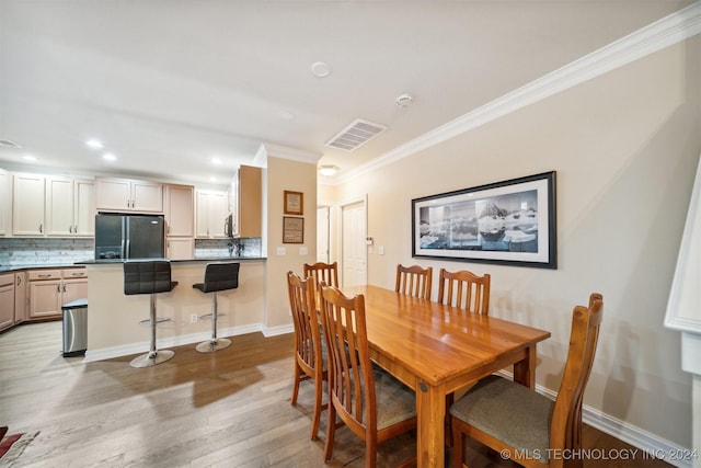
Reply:
M95 260L164 256L163 216L117 213L95 216Z

